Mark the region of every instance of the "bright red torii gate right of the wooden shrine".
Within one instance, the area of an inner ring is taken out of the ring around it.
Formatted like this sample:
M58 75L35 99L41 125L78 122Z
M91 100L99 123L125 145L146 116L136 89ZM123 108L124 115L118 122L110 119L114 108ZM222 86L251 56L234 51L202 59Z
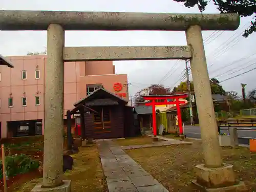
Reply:
M180 128L180 134L183 134L182 128L182 119L181 119L181 111L180 111L180 104L185 104L185 101L180 101L179 99L187 98L188 94L176 94L176 95L150 95L150 96L143 96L145 100L151 100L149 103L145 103L146 106L152 106L153 111L153 133L154 137L157 136L157 125L156 125L156 105L164 105L164 104L176 104L177 107L177 115L178 115L178 122ZM168 101L168 99L172 99L175 101ZM156 100L164 100L163 102L156 102Z

